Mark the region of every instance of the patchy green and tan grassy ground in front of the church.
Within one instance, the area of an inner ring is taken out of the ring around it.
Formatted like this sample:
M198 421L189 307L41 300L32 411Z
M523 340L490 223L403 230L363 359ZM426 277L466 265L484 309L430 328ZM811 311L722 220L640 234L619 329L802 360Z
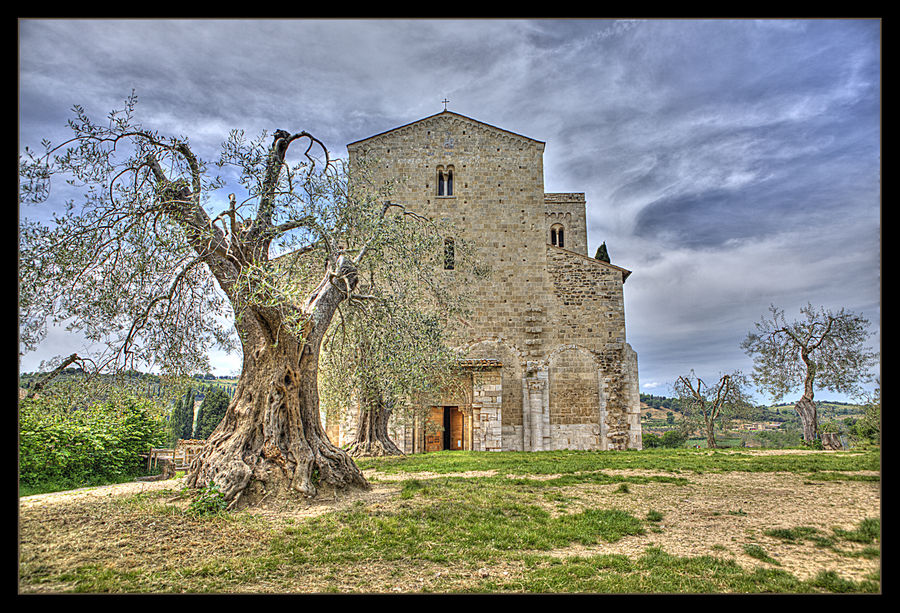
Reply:
M871 593L877 451L440 452L225 514L182 480L21 499L19 591Z

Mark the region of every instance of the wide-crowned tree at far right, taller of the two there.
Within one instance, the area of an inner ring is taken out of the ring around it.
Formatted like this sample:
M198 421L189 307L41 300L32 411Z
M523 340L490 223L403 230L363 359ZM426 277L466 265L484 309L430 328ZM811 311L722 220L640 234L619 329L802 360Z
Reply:
M807 304L803 319L788 323L784 311L769 307L770 317L756 323L741 347L753 357L753 381L777 402L803 385L795 408L803 425L803 440L817 438L815 388L859 394L860 383L871 381L869 369L877 354L864 347L869 321L841 309L832 312Z

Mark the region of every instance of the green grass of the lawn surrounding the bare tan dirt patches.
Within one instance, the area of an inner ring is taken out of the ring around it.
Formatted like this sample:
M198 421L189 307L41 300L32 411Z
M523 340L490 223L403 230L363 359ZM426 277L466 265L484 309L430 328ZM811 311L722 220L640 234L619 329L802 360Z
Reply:
M877 592L878 577L853 582L823 571L800 580L757 543L743 547L744 553L768 564L755 569L729 557L724 547L714 550L713 556L675 556L652 546L633 558L604 553L604 545L629 536L652 537L666 529L663 514L652 508L634 514L614 508L617 501L630 498L624 493L629 488L647 483L679 488L689 483L694 471L807 475L872 470L877 462L877 452L753 457L727 450L441 452L370 459L359 464L401 476L390 503L357 502L314 517L277 521L246 513L194 517L166 506L171 492L143 495L107 508L102 518L97 514L105 531L118 521L115 513L127 515L119 532L112 533L120 539L116 555L98 549L90 563L81 561L62 572L53 570L52 559L42 562L26 556L29 561L20 568L20 577L26 586L63 584L66 591L119 593ZM663 474L625 477L604 472L621 468ZM425 471L443 476L426 479L416 474ZM483 472L471 477L455 474L464 471ZM402 479L404 474L408 478ZM609 495L579 497L583 486ZM729 513L746 515L742 509ZM65 521L54 521L59 522L54 529L65 529ZM48 526L43 518L41 522L42 528ZM153 524L183 530L185 535L163 539L159 546L177 548L187 538L205 539L215 547L187 557L158 552L164 563L116 562L121 558L118 552L139 552L145 546L139 530ZM234 538L241 530L252 538ZM227 535L232 538L222 538ZM834 529L830 535L802 526L774 528L765 535L812 546L854 543L864 546L855 555L879 555L872 546L880 535L877 519L851 530ZM227 542L243 548L220 544ZM111 546L96 543L98 548ZM563 551L565 555L560 554Z

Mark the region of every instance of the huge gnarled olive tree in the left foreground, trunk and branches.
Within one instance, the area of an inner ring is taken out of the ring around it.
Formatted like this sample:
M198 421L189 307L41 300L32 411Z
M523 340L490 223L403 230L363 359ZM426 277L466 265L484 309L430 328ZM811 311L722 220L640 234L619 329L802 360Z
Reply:
M20 202L47 202L58 175L84 190L51 224L20 225L23 346L48 321L67 322L102 343L104 368L189 373L207 368L210 348L237 344L240 381L189 485L215 484L232 506L367 488L320 421L321 344L342 304L370 299L358 290L368 257L433 270L443 237L387 192L348 180L302 131L250 141L233 131L216 166L244 194L208 213L228 183L187 138L138 124L135 104L106 124L75 107L70 140L20 156Z

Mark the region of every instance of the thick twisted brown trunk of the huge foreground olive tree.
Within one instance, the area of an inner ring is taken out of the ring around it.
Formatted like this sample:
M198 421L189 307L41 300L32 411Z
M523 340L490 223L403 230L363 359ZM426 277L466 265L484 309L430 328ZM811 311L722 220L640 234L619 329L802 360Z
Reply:
M314 497L323 487L369 487L349 455L328 440L319 417L319 350L337 305L355 284L349 266L342 258L337 274L326 275L310 296L302 337L261 308L239 318L241 378L225 417L192 463L189 486L214 484L233 507L270 493ZM331 282L348 275L349 288Z

